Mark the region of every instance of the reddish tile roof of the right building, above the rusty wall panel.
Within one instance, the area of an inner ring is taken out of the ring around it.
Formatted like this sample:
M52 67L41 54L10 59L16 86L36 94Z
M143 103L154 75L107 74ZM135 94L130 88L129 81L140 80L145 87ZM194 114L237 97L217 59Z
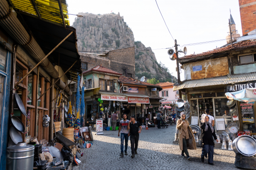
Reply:
M185 55L184 57L180 57L179 60L181 60L180 62L182 62L183 59L188 59L188 58L193 58L193 57L202 57L202 56L211 55L214 53L227 52L228 50L231 50L231 49L232 50L242 49L242 48L249 48L249 47L253 47L253 46L256 46L256 39L234 43L233 48L231 47L231 45L227 45L227 46L216 48L216 49L213 49L213 50L210 50L207 52L203 52L200 54Z

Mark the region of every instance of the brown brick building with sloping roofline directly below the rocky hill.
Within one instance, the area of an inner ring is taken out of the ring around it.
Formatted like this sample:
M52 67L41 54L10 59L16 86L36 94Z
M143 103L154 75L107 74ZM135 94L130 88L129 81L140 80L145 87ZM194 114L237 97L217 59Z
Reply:
M106 51L103 54L79 53L83 72L97 65L135 78L135 47Z

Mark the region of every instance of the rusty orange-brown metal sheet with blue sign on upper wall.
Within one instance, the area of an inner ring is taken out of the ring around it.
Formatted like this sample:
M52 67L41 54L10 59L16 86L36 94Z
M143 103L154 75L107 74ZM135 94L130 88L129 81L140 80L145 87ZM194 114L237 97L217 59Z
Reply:
M189 63L189 65L192 80L226 76L227 74L229 74L229 64L227 57L192 62ZM195 68L195 66L198 66L200 69L193 70L193 67Z

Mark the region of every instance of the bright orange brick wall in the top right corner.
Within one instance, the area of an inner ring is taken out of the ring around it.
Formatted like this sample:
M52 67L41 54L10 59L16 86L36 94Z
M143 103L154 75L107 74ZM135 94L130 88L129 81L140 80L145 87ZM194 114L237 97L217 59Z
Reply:
M256 0L239 0L243 35L256 29Z

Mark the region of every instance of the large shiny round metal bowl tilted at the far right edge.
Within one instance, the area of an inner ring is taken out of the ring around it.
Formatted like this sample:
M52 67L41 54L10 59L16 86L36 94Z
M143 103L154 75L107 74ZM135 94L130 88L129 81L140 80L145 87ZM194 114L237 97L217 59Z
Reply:
M256 140L249 135L241 135L232 143L236 155L254 156L256 154Z

